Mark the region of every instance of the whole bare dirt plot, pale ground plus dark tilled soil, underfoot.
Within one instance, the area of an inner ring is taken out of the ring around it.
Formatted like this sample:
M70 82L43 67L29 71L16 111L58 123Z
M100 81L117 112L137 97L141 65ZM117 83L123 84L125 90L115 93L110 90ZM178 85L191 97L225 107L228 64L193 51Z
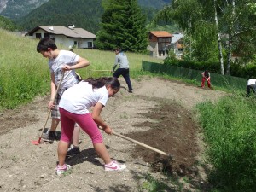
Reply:
M126 87L123 79L120 81ZM160 173L163 168L174 175L192 176L195 184L183 185L183 189L198 189L203 178L194 167L200 148L191 108L198 102L214 101L224 93L156 78L132 83L134 93L121 89L109 99L102 116L114 131L172 154L171 164L161 162L165 157L148 148L103 134L111 157L128 167L124 172L104 172L90 138L81 134L81 154L67 160L73 166L72 173L57 177L57 142L38 146L31 143L38 140L44 127L49 99L46 96L0 114L0 191L139 191L138 184L145 182L149 172L166 183L166 191L180 191Z

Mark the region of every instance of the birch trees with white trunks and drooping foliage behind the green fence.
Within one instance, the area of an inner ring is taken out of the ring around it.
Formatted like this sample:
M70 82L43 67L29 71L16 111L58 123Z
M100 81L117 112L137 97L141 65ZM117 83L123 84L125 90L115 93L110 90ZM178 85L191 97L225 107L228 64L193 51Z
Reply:
M176 20L183 31L194 39L194 47L190 47L194 51L192 54L189 53L192 55L191 59L205 60L203 56L199 55L200 52L198 51L198 49L202 49L203 45L199 42L201 38L204 38L203 40L206 43L203 48L204 51L207 50L208 55L214 57L214 52L218 52L220 71L224 74L223 53L225 50L227 53L225 73L230 74L233 53L239 53L244 58L249 59L253 58L253 51L256 50L256 44L254 43L256 40L256 5L254 1L176 0L173 1L172 6L168 7L168 11L163 9L161 13L164 13L162 19ZM166 16L166 13L170 17ZM211 35L213 33L215 33L215 36ZM214 44L218 44L218 50L215 49Z

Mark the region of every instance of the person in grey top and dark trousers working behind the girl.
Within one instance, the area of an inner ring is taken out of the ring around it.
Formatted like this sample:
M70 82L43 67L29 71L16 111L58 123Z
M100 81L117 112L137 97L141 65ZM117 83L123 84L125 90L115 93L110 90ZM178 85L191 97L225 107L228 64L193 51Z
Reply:
M115 67L119 64L119 68L114 72ZM132 86L130 80L130 73L129 73L129 61L125 53L119 47L115 49L115 61L113 64L113 77L119 78L122 75L125 79L126 84L128 85L129 93L132 93Z

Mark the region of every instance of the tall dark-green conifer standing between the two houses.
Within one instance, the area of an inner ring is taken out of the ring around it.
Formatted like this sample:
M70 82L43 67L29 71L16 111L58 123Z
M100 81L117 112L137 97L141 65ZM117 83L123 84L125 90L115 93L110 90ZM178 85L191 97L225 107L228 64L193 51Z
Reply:
M147 47L146 16L137 0L103 0L101 28L96 34L98 49L117 46L126 51L144 51Z

